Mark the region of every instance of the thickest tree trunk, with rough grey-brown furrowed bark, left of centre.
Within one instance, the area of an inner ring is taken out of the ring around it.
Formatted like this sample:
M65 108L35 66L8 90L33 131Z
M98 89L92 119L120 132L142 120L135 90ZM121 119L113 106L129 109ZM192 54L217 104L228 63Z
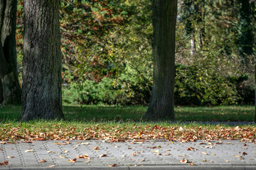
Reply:
M24 1L21 120L63 118L59 1Z

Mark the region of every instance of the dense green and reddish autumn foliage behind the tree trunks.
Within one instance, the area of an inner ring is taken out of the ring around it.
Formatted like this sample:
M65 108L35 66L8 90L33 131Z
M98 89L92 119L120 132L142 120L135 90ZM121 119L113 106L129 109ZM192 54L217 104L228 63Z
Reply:
M20 77L22 4L19 0L16 30ZM63 101L147 104L153 79L151 1L62 0L60 4ZM250 26L250 35L255 36L255 1L249 4L250 19L241 18L238 0L178 2L177 105L253 102L255 52L241 62L239 43L244 38L241 27L247 33ZM241 23L245 21L246 26Z

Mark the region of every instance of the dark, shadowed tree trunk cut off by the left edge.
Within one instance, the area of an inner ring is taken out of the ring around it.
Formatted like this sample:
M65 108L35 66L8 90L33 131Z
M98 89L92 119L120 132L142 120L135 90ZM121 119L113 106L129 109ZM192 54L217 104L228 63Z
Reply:
M21 103L16 62L16 0L0 0L0 103Z

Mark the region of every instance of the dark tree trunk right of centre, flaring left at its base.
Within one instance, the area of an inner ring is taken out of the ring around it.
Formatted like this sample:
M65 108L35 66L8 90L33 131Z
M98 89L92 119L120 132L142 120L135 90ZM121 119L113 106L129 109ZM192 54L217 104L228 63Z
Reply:
M154 82L146 119L174 119L177 1L153 0Z

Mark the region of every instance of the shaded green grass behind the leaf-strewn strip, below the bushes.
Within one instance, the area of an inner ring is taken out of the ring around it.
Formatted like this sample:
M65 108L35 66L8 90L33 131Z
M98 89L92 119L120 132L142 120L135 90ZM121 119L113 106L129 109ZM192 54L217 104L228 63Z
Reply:
M143 106L63 106L65 120L68 121L107 121L141 120L146 112ZM180 121L253 121L254 106L215 106L175 108L176 120ZM0 107L0 120L18 120L21 106Z

